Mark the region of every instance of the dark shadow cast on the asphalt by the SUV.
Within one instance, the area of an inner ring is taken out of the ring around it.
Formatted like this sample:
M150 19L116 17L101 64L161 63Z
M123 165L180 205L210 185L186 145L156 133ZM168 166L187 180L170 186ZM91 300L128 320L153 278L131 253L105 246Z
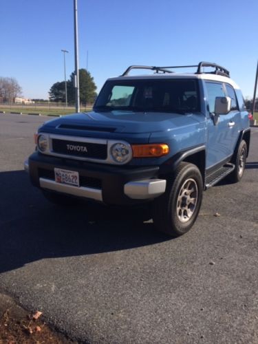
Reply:
M146 208L47 202L24 171L0 173L0 272L48 257L127 250L171 239Z

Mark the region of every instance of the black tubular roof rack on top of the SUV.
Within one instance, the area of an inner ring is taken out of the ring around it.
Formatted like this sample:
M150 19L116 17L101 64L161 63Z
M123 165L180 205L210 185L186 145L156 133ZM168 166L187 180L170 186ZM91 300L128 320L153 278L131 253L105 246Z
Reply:
M198 65L174 65L174 66L169 66L169 67L155 67L155 66L146 66L146 65L131 65L130 67L127 68L127 70L122 74L122 76L127 76L131 69L150 69L154 70L155 73L162 72L162 73L173 73L173 71L169 69L174 69L174 68L190 68L190 67L197 67L197 72L195 74L217 74L217 75L222 75L222 76L227 76L228 78L230 77L228 69L222 67L221 65L217 65L216 63L211 63L211 62L200 62ZM214 67L215 70L214 72L202 72L203 67Z

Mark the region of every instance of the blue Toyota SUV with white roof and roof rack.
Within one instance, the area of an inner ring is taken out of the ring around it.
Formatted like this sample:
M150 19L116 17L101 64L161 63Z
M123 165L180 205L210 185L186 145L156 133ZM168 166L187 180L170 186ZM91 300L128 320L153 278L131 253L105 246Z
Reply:
M92 112L46 122L25 162L32 184L61 204L74 196L125 206L151 202L159 230L186 233L205 189L226 175L241 180L250 127L227 69L206 62L184 67L197 71L131 66L106 81ZM132 69L155 73L129 76Z

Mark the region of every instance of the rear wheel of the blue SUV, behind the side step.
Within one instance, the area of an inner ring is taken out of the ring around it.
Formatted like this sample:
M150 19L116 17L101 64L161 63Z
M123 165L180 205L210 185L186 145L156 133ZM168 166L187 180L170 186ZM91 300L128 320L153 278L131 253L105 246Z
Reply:
M244 169L246 167L246 155L247 155L247 144L245 140L241 140L236 158L233 162L235 169L230 175L228 175L228 181L232 183L240 182L244 175Z

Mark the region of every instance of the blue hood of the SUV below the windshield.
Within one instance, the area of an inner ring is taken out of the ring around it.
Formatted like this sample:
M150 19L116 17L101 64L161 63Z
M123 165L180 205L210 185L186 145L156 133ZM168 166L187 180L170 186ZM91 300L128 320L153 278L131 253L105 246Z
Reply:
M92 111L62 116L45 122L44 129L55 133L87 131L96 133L154 133L170 131L178 127L196 125L200 117L195 114L171 114L164 112ZM42 129L43 129L42 128Z

